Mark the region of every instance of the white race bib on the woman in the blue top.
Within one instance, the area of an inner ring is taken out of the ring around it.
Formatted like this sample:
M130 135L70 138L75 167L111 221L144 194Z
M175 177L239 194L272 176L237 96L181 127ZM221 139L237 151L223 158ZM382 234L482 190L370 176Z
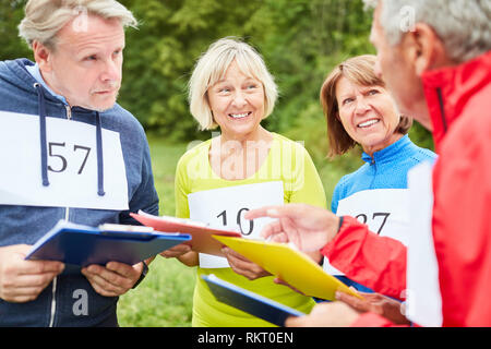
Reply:
M370 231L390 237L407 245L409 226L409 191L407 189L363 190L343 198L337 216L352 216L368 225ZM324 257L324 270L331 275L344 275Z

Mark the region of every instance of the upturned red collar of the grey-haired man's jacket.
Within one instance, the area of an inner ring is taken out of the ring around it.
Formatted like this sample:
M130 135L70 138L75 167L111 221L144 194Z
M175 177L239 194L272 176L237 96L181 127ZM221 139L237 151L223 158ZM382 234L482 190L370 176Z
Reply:
M424 72L421 79L438 149L467 101L491 83L491 51L456 67Z

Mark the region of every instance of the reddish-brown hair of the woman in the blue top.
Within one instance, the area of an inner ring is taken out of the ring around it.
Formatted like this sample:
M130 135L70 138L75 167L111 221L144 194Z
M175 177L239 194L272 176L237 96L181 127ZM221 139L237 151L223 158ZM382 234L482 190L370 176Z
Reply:
M339 107L336 99L336 85L342 77L362 86L385 87L382 79L374 72L376 57L373 55L362 55L347 59L337 64L327 75L321 87L320 99L324 116L327 121L327 137L330 151L327 156L333 158L343 155L356 145L356 142L346 132L339 121ZM399 124L395 133L406 134L412 125L412 118L400 116Z

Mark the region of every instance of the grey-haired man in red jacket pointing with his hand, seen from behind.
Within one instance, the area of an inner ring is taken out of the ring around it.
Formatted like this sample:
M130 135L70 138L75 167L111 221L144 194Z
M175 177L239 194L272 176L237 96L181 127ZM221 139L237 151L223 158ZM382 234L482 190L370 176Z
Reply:
M428 253L419 250L421 244L411 248L410 242L406 249L379 237L352 217L307 205L265 207L246 217L278 218L263 230L264 237L292 241L302 251L321 250L346 276L393 298L403 297L410 255L421 252L416 258L423 267L412 275L431 269L435 287L418 299L436 304L438 314L411 320L431 326L491 326L490 33L491 7L486 1L376 1L371 33L376 69L400 111L432 131L439 153L429 183L429 234L421 240ZM418 237L421 231L410 233ZM386 314L382 306L364 303L378 314L361 313L359 301L343 293L338 299L344 302L319 304L287 325L394 325L381 316Z

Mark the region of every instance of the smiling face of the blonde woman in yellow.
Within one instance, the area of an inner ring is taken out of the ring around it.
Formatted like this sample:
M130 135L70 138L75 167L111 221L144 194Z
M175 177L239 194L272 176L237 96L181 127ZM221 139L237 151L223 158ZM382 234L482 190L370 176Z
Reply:
M224 79L207 91L215 122L227 140L254 140L264 118L264 87L261 81L246 75L236 61Z

